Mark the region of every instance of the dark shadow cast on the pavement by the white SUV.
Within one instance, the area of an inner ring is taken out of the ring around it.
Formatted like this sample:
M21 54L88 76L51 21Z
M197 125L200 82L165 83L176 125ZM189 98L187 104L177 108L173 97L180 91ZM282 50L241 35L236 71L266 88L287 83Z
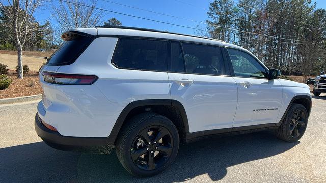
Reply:
M37 142L0 149L2 182L182 182L208 174L220 180L233 165L263 159L297 145L277 139L273 131L208 138L181 145L174 164L149 178L129 175L110 155L72 153Z

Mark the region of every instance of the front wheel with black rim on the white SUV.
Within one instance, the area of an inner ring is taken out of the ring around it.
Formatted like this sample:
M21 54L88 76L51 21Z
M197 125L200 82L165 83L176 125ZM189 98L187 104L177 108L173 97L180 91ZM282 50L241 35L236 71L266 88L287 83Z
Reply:
M305 106L293 103L281 126L276 130L276 136L287 142L298 141L306 131L308 112Z

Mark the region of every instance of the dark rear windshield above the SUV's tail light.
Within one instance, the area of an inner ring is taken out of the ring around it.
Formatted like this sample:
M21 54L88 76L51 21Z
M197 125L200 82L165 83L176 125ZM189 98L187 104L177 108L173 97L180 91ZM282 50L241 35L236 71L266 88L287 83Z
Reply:
M74 36L69 41L63 42L55 53L52 54L46 65L61 66L72 64L83 52L90 42L90 38L85 36Z

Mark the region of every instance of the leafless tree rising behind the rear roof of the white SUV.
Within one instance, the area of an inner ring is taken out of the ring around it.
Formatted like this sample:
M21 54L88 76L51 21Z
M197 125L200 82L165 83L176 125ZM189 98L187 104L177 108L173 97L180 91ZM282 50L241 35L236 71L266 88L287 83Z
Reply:
M59 24L57 31L61 34L69 29L101 24L104 15L103 11L96 9L96 4L96 0L71 0L69 3L59 1L58 5L52 8L53 17Z

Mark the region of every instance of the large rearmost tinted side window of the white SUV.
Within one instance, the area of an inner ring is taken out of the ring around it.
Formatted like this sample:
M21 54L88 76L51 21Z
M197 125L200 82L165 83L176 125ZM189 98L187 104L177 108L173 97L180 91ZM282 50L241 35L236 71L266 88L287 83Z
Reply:
M121 68L167 71L168 42L119 38L112 63Z

